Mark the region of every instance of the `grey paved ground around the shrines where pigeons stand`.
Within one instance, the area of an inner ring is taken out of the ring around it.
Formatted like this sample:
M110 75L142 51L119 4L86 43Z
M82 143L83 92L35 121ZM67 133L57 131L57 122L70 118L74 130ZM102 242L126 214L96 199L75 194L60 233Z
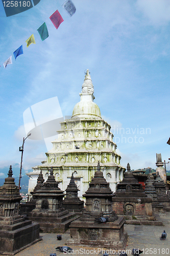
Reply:
M143 250L141 256L167 256L170 255L170 212L159 215L164 226L149 226L149 225L126 225L125 230L128 232L128 243L126 246L128 256L131 255L133 248ZM166 240L160 240L161 233L165 229L167 233ZM62 256L63 253L56 250L57 246L63 246L65 241L69 238L69 230L62 234L62 240L57 240L57 234L54 233L40 233L42 241L26 248L15 254L16 256L50 256L51 253L56 253ZM78 247L71 246L74 249L75 256L96 255L100 256L104 253L100 252L100 248ZM118 250L109 250L110 255L118 255Z

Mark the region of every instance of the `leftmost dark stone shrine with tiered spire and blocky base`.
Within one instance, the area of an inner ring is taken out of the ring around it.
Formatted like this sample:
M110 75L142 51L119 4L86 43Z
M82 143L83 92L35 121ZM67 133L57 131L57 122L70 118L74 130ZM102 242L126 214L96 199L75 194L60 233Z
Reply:
M0 254L3 255L14 255L41 240L39 224L19 215L22 197L12 175L10 166L8 178L0 187Z

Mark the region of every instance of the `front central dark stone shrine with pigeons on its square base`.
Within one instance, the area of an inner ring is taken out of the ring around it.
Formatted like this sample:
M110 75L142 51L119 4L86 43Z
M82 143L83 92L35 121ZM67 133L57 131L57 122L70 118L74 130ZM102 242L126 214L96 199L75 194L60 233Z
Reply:
M81 218L70 224L70 239L66 242L67 245L125 248L125 219L117 217L112 210L112 193L98 163L98 170L83 195L86 198L86 211ZM108 217L108 222L99 223L96 219L100 217Z

